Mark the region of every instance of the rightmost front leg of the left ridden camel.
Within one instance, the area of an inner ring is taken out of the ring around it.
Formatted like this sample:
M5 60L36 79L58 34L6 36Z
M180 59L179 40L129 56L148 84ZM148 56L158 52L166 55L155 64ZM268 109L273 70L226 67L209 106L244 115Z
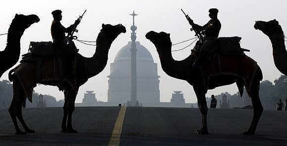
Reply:
M67 110L68 110L68 121L67 121L67 132L68 133L78 133L77 130L73 129L72 127L72 114L75 110L75 100L76 100L76 93L73 90L69 91L68 103L67 103Z

